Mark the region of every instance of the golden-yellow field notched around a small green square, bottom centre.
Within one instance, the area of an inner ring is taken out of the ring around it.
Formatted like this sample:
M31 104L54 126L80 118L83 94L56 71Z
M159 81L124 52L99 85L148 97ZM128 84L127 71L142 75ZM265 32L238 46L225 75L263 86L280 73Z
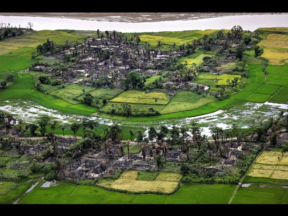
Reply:
M154 181L143 181L136 180L137 175L137 171L125 171L119 179L103 184L103 186L132 192L171 193L182 178L181 174L177 173L160 173Z

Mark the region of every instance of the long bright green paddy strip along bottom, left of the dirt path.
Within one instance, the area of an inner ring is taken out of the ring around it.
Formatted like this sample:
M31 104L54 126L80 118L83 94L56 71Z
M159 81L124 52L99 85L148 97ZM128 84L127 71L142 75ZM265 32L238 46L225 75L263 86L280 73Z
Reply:
M108 192L93 186L60 183L35 187L20 204L225 204L236 185L183 184L173 195Z

